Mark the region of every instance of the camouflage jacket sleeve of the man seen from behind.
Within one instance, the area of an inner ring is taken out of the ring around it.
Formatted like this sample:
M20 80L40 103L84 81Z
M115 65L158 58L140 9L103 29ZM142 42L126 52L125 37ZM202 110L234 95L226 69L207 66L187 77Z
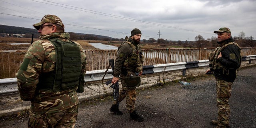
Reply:
M54 46L49 45L50 47L46 48L54 48ZM49 57L52 55L49 55ZM55 58L54 58L55 59ZM42 46L41 41L35 41L28 48L24 56L24 60L20 65L20 70L16 73L16 78L18 82L18 90L20 93L20 98L22 100L28 101L33 100L34 94L36 91L36 84L38 84L39 75L42 70L43 62L45 60L45 51ZM45 72L49 72L49 70L54 70L54 62L50 62L53 64L46 64L48 67Z

